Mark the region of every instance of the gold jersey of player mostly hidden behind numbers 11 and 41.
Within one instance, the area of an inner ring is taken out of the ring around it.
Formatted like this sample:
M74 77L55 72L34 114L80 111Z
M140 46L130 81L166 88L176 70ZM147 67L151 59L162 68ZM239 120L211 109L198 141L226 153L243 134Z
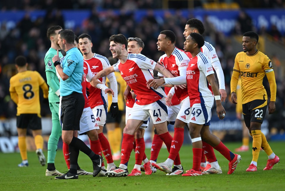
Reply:
M120 72L114 72L116 79L117 79L117 84L118 84L118 107L120 111L125 110L125 99L124 99L124 92L126 90L127 84L125 80L121 77ZM108 88L111 88L110 81L107 78L106 79L106 86ZM110 107L112 104L112 98L113 95L108 93L108 112L110 111Z

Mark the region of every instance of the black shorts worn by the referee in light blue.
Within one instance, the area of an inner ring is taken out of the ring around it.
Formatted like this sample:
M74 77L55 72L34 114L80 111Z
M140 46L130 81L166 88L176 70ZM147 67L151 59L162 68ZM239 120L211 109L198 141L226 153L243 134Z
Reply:
M72 93L63 96L60 100L60 123L64 131L80 130L80 118L85 100L82 93Z

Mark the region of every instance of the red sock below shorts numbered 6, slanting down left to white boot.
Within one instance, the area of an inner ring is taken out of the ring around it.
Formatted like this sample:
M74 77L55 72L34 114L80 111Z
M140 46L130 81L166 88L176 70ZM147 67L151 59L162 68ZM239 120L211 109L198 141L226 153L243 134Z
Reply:
M175 160L184 140L184 128L174 128L174 136L168 158Z

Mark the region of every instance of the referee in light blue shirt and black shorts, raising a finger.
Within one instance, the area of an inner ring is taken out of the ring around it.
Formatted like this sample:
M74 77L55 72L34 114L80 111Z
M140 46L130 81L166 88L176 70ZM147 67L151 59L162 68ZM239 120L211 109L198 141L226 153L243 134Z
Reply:
M66 56L60 58L57 54L53 57L53 65L60 76L60 121L62 125L62 140L69 145L70 169L62 176L55 179L78 179L77 159L79 151L90 157L93 162L93 176L101 171L102 156L96 155L85 143L73 136L73 131L80 130L80 117L84 108L84 97L81 82L83 79L83 57L74 47L75 34L72 30L64 29L58 32L58 44L66 51ZM61 68L62 65L62 68Z

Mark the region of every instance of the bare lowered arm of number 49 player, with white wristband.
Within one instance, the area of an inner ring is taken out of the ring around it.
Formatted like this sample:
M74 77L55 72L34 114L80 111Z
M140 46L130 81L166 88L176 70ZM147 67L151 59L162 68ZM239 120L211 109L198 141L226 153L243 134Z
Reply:
M211 84L211 87L212 87L212 90L215 96L218 118L223 120L226 115L226 111L224 107L222 106L220 92L219 92L218 84L215 78L215 74L208 75L207 80Z

